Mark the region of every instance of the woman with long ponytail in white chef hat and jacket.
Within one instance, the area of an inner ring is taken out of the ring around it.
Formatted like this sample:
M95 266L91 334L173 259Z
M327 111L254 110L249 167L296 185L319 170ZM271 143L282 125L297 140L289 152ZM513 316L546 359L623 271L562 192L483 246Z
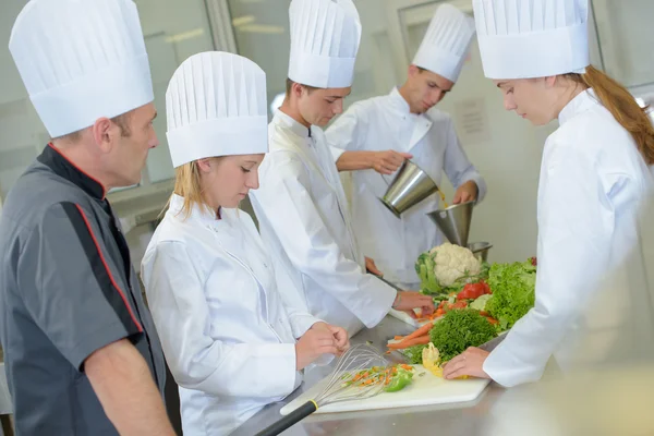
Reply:
M639 215L652 199L654 130L629 92L590 65L588 0L473 5L484 72L506 109L560 125L541 167L535 307L493 352L470 349L444 372L513 386L537 380L553 354L565 366L603 276L638 249Z

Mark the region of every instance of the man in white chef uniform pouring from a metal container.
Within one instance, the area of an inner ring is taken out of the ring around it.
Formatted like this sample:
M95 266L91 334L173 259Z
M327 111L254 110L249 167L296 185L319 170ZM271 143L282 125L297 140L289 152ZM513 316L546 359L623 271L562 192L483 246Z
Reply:
M461 148L452 119L435 108L455 86L473 37L471 17L450 4L439 7L407 82L388 95L355 102L325 132L338 169L363 170L352 173L351 197L362 250L404 289L420 288L419 255L445 242L426 216L438 208L437 194L400 219L379 202L404 159L411 158L438 185L445 172L457 189L453 204L486 195L486 183Z

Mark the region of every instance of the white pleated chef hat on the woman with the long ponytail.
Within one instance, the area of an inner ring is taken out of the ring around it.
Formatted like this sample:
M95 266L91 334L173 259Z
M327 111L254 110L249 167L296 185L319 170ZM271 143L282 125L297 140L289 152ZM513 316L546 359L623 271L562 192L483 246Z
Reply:
M588 0L473 0L484 73L531 78L590 64Z

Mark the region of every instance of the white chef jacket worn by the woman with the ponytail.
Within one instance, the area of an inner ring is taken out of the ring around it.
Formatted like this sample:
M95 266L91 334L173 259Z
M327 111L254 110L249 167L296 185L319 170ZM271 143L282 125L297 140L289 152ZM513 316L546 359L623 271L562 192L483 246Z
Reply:
M583 343L574 332L584 307L641 250L639 215L652 198L652 173L633 138L592 90L572 99L559 123L541 167L535 307L484 364L504 386L540 379L552 354L566 368L574 341Z

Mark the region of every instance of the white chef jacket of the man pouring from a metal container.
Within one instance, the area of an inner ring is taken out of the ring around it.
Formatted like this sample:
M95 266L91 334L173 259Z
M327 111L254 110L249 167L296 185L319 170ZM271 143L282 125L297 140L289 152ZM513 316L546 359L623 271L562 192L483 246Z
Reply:
M443 172L455 187L468 181L479 186L477 202L486 195L486 183L459 143L452 119L436 108L411 113L409 104L393 88L389 95L358 101L325 132L335 160L344 150L410 153L440 185ZM404 289L420 289L415 261L421 253L445 242L427 213L438 208L434 194L398 219L379 201L396 174L373 169L352 172L352 219L359 243L373 257L385 277Z

